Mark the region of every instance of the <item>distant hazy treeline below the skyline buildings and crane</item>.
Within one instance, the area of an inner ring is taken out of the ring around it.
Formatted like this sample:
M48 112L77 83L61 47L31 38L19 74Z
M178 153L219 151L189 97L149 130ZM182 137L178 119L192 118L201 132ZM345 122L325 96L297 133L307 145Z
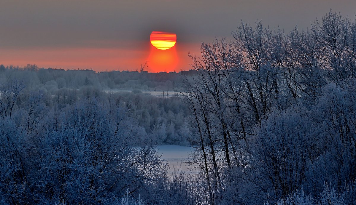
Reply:
M38 86L50 84L58 88L79 89L82 86L94 86L100 89L118 89L142 91L174 91L179 88L181 77L179 74L155 75L135 72L103 72L64 71L39 68L35 64L25 67L0 65L0 72L25 71L24 74ZM1 77L1 76L0 76Z

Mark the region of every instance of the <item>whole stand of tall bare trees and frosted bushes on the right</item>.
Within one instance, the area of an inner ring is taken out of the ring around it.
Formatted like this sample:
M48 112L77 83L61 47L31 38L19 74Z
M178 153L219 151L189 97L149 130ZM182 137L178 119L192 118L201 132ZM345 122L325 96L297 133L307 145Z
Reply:
M209 204L356 203L356 22L241 22L192 55L191 141Z

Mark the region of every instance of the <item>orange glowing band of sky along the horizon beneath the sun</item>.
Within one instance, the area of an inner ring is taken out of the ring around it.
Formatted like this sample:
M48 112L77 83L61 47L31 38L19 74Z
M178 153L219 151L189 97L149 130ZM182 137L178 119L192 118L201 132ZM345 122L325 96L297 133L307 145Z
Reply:
M147 34L146 34L147 35ZM148 36L148 35L147 35ZM114 42L115 43L115 42ZM119 48L119 45L125 45ZM95 71L139 71L146 60L148 72L181 71L190 69L187 53L200 53L200 44L176 43L172 48L159 50L147 41L116 42L114 47L29 47L1 48L0 65L39 68L93 69ZM130 45L130 46L126 46Z

